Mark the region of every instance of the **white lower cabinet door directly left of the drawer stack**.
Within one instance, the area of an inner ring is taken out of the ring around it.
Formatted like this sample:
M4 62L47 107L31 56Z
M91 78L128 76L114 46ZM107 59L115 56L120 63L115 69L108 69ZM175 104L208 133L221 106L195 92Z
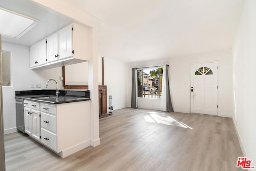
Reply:
M40 111L38 110L31 110L32 113L32 137L35 139L40 140L41 135L41 121L40 121Z

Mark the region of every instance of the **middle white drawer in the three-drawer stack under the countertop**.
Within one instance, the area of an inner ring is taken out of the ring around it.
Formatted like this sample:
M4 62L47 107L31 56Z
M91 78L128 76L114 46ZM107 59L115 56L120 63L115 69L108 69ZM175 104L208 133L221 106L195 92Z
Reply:
M41 126L56 132L56 115L49 115L41 112Z

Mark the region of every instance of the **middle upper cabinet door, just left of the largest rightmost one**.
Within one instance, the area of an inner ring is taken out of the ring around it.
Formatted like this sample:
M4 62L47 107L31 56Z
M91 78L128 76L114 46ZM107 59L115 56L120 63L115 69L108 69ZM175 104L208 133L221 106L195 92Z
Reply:
M47 38L47 62L58 60L58 33Z

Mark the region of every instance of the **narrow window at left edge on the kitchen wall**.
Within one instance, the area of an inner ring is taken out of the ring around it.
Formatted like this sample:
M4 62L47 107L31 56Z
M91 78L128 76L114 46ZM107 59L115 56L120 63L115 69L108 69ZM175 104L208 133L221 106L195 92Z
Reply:
M2 52L2 79L3 86L11 86L11 54Z

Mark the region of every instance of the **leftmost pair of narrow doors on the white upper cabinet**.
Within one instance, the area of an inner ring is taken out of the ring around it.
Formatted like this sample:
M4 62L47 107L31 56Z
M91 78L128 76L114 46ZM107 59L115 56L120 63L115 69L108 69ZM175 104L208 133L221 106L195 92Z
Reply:
M46 64L46 59L46 40L44 39L30 47L30 67Z

